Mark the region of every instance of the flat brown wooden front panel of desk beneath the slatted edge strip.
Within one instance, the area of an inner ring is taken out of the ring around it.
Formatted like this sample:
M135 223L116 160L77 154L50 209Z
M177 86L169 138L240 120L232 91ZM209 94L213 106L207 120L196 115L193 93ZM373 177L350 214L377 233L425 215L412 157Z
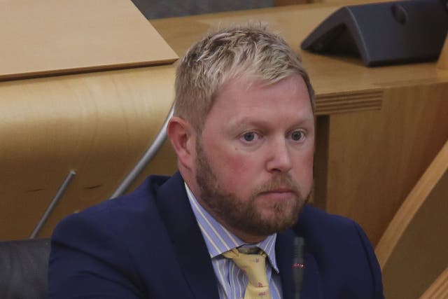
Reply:
M447 83L389 88L380 111L330 116L328 181L316 181L326 209L358 221L377 244L448 139L447 99Z

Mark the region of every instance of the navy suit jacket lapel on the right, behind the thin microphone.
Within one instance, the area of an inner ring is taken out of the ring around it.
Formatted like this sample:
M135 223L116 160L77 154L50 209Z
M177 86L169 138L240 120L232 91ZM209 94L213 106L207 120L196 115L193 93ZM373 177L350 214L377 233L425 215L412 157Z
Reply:
M276 261L279 265L281 288L284 299L294 299L295 284L293 279L293 254L294 254L294 237L292 230L279 232L276 239ZM306 240L305 240L306 242ZM304 254L304 279L300 290L300 298L302 299L319 299L323 298L321 276L318 272L318 265L314 256L305 249Z

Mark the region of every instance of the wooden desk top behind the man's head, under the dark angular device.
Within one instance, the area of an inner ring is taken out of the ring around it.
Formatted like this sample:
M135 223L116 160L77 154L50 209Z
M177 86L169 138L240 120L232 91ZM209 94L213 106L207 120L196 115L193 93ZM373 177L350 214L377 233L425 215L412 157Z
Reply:
M300 43L304 38L339 7L336 4L280 6L166 18L152 20L151 23L179 56L216 27L249 21L266 23L302 56L316 90L318 115L380 109L382 92L386 88L448 81L448 71L437 69L435 62L368 68L360 58L302 52Z

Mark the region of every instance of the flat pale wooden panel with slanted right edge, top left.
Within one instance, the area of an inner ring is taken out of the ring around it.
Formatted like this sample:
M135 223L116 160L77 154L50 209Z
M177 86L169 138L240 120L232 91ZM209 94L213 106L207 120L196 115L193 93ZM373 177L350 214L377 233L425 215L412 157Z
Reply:
M0 80L177 58L130 0L2 0L0 36Z

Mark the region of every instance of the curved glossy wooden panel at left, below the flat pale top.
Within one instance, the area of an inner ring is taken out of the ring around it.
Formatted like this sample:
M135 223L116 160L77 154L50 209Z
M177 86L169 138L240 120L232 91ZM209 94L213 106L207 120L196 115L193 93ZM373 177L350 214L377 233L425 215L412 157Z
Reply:
M173 84L170 66L0 83L0 239L29 237L71 169L41 236L108 198L160 130ZM151 170L171 174L169 157Z

